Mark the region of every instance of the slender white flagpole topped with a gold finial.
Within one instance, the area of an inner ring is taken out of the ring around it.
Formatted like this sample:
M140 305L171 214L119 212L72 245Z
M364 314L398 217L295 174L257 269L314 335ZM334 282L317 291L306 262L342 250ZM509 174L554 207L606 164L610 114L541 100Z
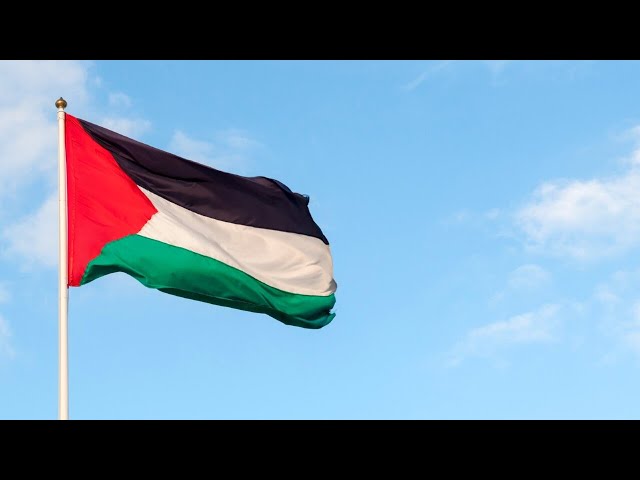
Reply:
M64 109L67 102L60 97L58 108L58 420L69 420L69 287L67 271L67 153L64 135Z

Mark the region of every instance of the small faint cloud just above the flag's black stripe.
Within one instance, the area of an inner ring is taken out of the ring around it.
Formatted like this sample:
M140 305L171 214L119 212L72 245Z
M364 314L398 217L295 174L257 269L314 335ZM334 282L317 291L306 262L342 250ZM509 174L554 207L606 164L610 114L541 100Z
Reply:
M237 173L246 165L248 154L261 146L237 129L217 132L214 138L215 142L197 140L178 130L173 134L169 150L189 160Z

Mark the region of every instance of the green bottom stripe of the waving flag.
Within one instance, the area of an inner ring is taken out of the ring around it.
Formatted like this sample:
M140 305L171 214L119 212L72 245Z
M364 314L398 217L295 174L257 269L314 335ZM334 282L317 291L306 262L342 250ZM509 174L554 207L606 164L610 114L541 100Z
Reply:
M114 272L172 295L266 313L287 325L321 328L335 316L330 313L334 294L285 292L213 258L140 235L105 245L87 266L80 285Z

